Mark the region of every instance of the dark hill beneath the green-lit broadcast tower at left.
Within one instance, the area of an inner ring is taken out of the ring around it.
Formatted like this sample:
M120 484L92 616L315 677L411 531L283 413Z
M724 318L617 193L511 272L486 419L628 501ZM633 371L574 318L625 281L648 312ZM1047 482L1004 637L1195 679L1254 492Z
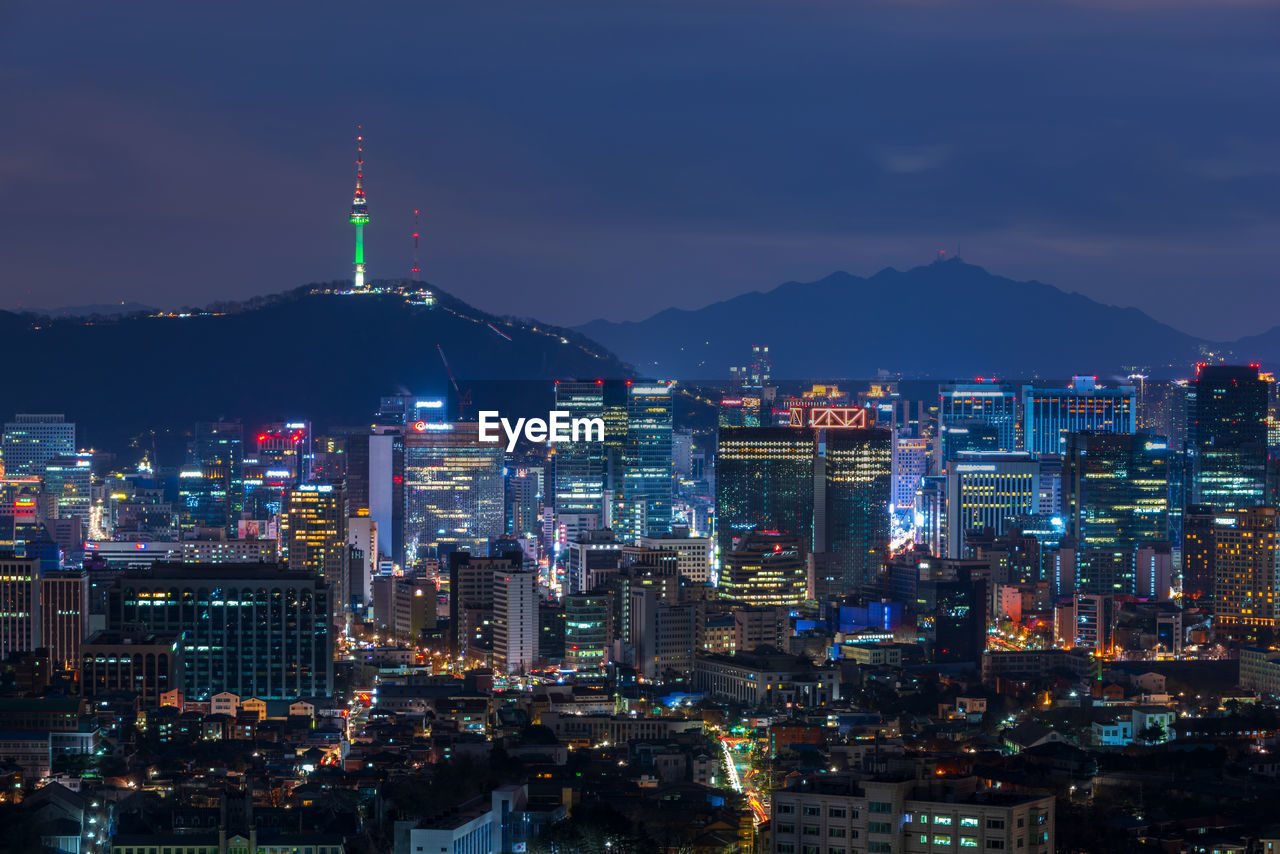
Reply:
M220 417L243 419L250 429L297 417L311 419L316 430L369 424L381 394L448 393L436 344L462 391L488 408L544 407L545 415L550 379L632 375L571 330L488 315L439 289L434 307L393 293L321 291L300 288L183 318L0 312L0 335L13 355L0 384L0 419L65 412L82 446L113 449L147 429L184 430ZM521 394L511 392L520 380L536 380L525 383L536 399L508 407Z

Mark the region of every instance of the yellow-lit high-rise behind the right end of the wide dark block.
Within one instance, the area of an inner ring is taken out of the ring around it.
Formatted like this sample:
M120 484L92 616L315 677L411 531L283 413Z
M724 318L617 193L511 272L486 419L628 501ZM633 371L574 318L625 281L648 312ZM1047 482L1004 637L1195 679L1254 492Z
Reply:
M351 607L346 521L342 489L333 484L302 484L291 489L280 520L280 540L289 568L314 572L329 584L335 618Z

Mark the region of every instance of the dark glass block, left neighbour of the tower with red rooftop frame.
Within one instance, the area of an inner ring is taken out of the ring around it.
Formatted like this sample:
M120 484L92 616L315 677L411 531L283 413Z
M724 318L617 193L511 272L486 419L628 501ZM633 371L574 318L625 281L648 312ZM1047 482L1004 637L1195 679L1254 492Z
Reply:
M756 528L813 547L814 434L805 428L722 428L716 463L721 561ZM887 512L887 508L886 508Z

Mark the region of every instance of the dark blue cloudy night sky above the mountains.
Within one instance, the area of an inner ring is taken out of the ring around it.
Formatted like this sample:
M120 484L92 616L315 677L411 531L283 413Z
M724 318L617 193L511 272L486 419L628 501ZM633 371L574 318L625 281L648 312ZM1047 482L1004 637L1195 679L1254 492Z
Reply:
M0 305L349 277L360 120L370 274L417 206L426 277L499 314L959 243L1233 338L1280 323L1277 45L1280 5L1230 0L9 0Z

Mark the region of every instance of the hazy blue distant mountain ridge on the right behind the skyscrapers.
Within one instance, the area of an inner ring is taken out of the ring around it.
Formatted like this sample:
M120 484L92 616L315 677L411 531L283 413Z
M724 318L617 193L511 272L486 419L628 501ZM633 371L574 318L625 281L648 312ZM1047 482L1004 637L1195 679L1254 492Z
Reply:
M1014 282L960 260L870 278L833 273L695 311L577 328L637 370L673 379L728 375L767 343L782 379L1070 376L1144 369L1184 376L1206 350L1138 309L1103 305L1041 282ZM1270 338L1267 338L1270 335ZM1257 352L1280 356L1280 328Z

